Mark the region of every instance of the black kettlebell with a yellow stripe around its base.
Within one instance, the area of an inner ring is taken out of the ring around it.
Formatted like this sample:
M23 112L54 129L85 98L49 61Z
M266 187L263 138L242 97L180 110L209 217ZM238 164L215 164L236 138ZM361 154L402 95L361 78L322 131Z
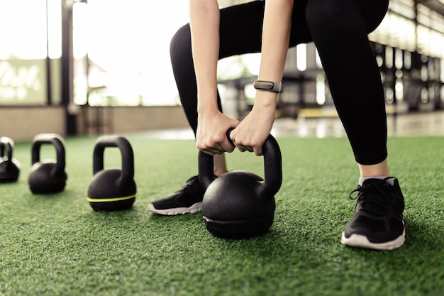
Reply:
M122 169L104 170L106 147L121 151ZM88 202L94 211L130 209L137 191L134 181L133 148L122 136L101 136L96 141L93 153L93 180L88 189Z

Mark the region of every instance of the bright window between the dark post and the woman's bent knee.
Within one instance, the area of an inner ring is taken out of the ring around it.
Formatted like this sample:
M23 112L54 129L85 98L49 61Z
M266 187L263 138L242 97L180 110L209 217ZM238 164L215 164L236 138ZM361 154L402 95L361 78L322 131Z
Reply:
M73 7L74 59L88 57L77 71L74 102L85 104L177 105L170 40L189 21L188 1L88 0ZM82 68L80 68L82 70ZM95 91L94 91L95 90Z

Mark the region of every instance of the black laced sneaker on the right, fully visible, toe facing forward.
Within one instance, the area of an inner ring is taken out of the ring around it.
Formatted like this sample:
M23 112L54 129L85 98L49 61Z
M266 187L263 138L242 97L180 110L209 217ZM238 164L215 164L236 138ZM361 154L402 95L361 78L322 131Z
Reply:
M355 197L353 193L358 192ZM343 232L341 243L358 248L392 250L405 241L404 196L394 177L368 179L350 193L356 212Z

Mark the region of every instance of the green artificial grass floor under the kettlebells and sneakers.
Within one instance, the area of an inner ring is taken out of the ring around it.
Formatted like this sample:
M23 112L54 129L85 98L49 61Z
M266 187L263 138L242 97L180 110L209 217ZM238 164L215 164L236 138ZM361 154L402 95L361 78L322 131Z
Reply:
M146 210L196 174L194 141L127 138L138 194L122 212L93 212L86 200L96 137L65 139L67 187L49 195L30 193L30 143L16 143L21 176L0 184L0 295L444 294L443 138L389 138L406 197L406 243L394 251L339 243L358 177L345 138L278 138L274 224L240 241L211 236L200 213ZM42 159L52 154L42 148ZM105 168L120 161L107 148ZM228 155L228 166L263 175L262 158L249 153Z

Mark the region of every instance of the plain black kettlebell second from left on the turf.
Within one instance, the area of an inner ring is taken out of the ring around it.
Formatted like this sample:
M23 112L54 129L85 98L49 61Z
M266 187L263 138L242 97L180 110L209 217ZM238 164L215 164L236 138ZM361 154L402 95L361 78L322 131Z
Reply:
M40 160L43 144L54 146L57 160ZM32 167L28 177L30 191L33 193L55 193L65 189L65 141L57 133L40 133L33 138L31 147Z

